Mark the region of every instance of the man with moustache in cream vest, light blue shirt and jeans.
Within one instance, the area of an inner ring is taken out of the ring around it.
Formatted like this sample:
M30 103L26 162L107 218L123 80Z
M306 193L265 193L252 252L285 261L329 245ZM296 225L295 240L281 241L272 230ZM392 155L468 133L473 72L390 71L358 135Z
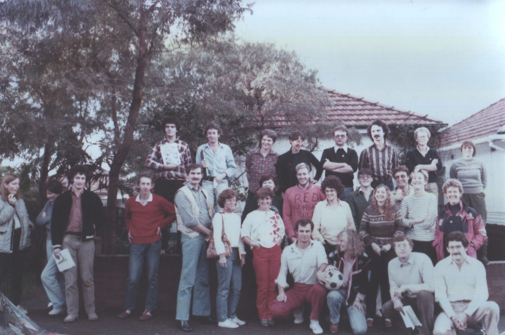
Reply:
M189 325L189 306L193 291L193 315L210 318L209 262L207 241L212 237L212 204L207 191L200 187L201 166L186 167L187 183L175 194L177 230L182 232L182 271L177 292L176 319L180 328L193 331ZM193 290L194 288L194 290Z

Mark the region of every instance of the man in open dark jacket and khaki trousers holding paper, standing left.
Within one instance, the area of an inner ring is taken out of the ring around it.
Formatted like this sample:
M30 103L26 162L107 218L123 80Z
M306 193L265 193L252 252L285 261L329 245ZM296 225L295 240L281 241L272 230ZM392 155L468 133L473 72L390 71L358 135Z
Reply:
M55 257L68 249L76 266L66 270L65 288L67 317L64 322L74 322L79 314L79 289L77 273L82 281L82 297L89 321L98 319L94 305L94 241L95 230L102 227L105 219L102 200L95 193L84 189L88 178L85 165L74 165L69 172L71 188L60 194L53 205L51 236Z

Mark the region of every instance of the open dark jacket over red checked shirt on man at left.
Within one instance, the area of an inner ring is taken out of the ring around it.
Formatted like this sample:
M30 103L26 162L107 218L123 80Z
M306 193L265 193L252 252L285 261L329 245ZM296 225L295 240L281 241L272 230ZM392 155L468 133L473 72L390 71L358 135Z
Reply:
M54 247L60 247L63 236L67 230L68 218L72 209L72 189L58 195L53 205L53 216L51 218L51 237ZM100 229L105 221L104 205L102 200L95 193L84 190L81 195L82 208L82 232L81 241L93 239L96 230Z

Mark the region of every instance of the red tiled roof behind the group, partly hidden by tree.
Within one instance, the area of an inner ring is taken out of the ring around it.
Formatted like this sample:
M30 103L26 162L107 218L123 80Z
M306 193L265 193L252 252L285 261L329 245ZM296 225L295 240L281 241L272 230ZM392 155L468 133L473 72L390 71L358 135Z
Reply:
M380 118L387 124L443 124L442 121L428 118L427 114L421 115L399 110L394 106L367 101L363 97L339 93L324 87L320 87L320 89L326 91L333 102L327 112L329 122L340 120L346 126L365 127ZM272 121L274 124L271 126L276 127L289 124L289 121L282 115L274 117Z

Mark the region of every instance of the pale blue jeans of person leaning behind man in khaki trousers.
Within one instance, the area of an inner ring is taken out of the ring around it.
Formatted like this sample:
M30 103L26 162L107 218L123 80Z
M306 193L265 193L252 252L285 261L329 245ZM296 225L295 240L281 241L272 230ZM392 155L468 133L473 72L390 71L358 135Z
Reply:
M49 301L53 303L53 308L65 308L65 276L58 270L55 257L53 257L53 243L46 240L45 251L47 253L47 264L45 264L40 280L44 286L45 293Z

